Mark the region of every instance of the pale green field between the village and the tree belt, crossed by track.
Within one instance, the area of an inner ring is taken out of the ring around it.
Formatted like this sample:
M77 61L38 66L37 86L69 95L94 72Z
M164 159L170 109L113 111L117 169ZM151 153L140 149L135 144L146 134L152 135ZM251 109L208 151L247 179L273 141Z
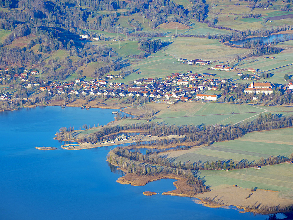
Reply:
M216 92L216 91L215 91ZM213 125L234 124L245 120L253 120L260 113L290 115L292 107L250 106L239 104L221 104L211 102L181 102L175 105L149 103L146 107L159 111L152 118L152 122L166 125ZM125 109L127 111L127 109ZM142 118L123 119L115 124L147 122Z

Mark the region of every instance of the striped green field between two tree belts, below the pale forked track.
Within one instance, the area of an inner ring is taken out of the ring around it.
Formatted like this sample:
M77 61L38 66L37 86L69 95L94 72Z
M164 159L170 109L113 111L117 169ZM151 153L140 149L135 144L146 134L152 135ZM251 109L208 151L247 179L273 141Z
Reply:
M192 148L190 150L162 153L173 161L212 162L217 160L258 161L261 157L289 156L293 153L291 140L293 128L272 131L252 132L232 141L215 142L211 146Z

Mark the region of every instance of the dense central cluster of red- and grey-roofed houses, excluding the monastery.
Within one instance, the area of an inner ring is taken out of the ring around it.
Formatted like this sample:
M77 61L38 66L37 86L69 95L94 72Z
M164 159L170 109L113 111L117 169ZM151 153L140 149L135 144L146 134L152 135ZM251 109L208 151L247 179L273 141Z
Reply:
M40 91L48 91L49 94L59 95L71 93L76 95L110 96L110 97L151 97L164 99L177 99L181 101L193 101L191 96L200 90L218 90L220 83L226 83L225 79L202 79L202 77L213 77L215 74L197 74L188 72L166 76L163 82L156 82L153 78L137 79L133 84L125 85L119 82L107 82L103 79L91 79L81 82L48 82L46 86L40 87ZM113 75L107 75L111 78ZM198 83L201 84L198 84ZM196 84L196 85L195 85ZM39 86L38 83L29 83L27 87ZM233 84L232 86L235 86ZM217 100L219 95L200 95L196 99Z

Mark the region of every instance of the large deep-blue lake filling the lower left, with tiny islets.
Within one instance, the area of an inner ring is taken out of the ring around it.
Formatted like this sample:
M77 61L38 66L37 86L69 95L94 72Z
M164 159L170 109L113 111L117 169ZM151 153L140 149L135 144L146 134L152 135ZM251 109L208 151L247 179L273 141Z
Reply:
M163 179L134 187L116 182L123 174L109 165L111 148L37 150L59 147L60 127L107 124L111 109L60 106L0 112L0 219L265 219L239 209L207 208ZM143 191L158 194L146 197Z

